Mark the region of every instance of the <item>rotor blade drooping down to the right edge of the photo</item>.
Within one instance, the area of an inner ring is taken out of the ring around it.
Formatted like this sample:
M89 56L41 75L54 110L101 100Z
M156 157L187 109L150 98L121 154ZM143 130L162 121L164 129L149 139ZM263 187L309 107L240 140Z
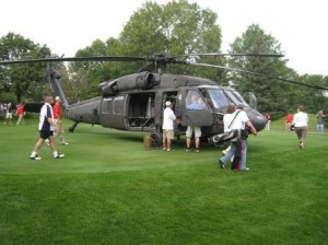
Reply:
M326 90L326 91L328 91L328 88L318 86L318 85L311 85L311 84L306 84L306 83L303 83L303 82L296 82L296 81L293 81L293 80L290 80L290 79L284 79L284 78L280 78L280 77L272 77L272 75L268 75L268 74L263 74L263 73L259 73L259 72L254 72L254 71L246 71L246 70L242 70L242 69L237 69L237 68L229 68L229 67L215 66L215 65L209 65L209 63L192 63L192 62L190 62L190 65L200 66L200 67L212 67L212 68L219 68L219 69L231 70L231 71L238 71L238 72L243 72L243 73L265 77L265 78L268 78L268 79L277 79L277 80L280 80L280 81L283 81L283 82L289 82L289 83L293 83L293 84L297 84L297 85L302 85L302 86L307 86L307 88L312 88L312 89L316 89L316 90Z

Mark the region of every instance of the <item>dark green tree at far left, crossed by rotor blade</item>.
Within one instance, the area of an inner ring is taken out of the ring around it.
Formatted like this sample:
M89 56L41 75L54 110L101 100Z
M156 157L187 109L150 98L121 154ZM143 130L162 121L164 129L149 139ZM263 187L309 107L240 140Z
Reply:
M0 38L0 57L2 60L45 58L49 55L49 48L39 46L21 35L9 33ZM23 96L34 101L40 100L45 68L45 63L1 67L2 85L0 90L14 93L17 102L21 102Z

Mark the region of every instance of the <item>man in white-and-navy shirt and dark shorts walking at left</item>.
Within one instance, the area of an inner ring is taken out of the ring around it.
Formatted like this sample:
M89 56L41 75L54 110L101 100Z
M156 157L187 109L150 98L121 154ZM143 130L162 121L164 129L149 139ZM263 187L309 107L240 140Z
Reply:
M39 113L39 139L37 140L30 159L32 160L40 160L42 158L38 156L39 149L44 145L45 140L49 140L49 145L52 150L54 159L62 159L65 158L63 154L60 154L56 150L55 141L54 141L54 129L55 129L55 121L54 121L54 113L51 104L54 103L54 98L50 95L45 96L45 104L43 105L40 113Z

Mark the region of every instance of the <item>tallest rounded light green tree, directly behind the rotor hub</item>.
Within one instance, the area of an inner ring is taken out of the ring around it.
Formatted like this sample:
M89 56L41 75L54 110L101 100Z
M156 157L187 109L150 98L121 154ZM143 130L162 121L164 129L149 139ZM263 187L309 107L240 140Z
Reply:
M128 55L218 52L222 39L216 20L218 15L211 10L201 9L197 3L185 0L171 1L165 5L145 2L130 18L119 39ZM190 66L169 67L167 71L204 74ZM213 69L211 72L218 73Z

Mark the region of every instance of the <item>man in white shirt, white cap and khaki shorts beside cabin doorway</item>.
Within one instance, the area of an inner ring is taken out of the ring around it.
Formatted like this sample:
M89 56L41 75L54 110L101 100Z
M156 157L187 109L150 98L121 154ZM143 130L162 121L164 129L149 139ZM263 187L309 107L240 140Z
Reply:
M166 108L164 109L163 115L163 150L164 151L172 151L171 148L171 140L174 139L174 121L178 120L176 119L176 116L172 109L173 104L171 102L165 102Z

